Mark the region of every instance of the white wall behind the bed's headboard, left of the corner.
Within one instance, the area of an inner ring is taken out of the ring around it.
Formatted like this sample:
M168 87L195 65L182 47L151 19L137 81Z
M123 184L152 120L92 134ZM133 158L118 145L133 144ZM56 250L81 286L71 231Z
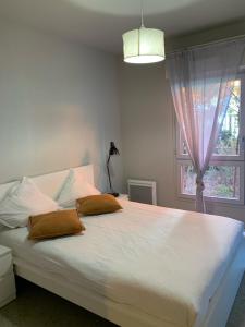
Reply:
M0 182L93 162L105 190L110 141L121 147L115 58L1 21Z

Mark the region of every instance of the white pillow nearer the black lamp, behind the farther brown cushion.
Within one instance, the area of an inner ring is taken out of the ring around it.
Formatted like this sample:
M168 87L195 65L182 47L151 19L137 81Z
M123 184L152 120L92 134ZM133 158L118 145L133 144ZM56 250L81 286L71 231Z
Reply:
M89 184L82 173L71 169L61 187L57 202L62 207L73 207L77 198L97 194L100 194L99 190Z

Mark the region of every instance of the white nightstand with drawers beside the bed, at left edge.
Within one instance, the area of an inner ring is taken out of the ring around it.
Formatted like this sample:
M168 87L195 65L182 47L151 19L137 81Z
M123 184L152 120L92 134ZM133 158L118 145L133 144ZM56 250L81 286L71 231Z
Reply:
M0 307L16 298L11 250L0 245Z

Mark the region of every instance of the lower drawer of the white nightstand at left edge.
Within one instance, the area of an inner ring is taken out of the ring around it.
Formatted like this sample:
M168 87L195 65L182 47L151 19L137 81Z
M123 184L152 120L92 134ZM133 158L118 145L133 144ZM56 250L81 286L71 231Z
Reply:
M0 307L16 298L14 275L9 274L0 278Z

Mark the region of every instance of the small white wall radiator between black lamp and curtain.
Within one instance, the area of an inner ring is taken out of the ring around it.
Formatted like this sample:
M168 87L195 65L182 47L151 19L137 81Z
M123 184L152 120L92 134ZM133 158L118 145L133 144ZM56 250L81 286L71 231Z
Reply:
M157 187L155 181L127 180L130 201L157 205Z

